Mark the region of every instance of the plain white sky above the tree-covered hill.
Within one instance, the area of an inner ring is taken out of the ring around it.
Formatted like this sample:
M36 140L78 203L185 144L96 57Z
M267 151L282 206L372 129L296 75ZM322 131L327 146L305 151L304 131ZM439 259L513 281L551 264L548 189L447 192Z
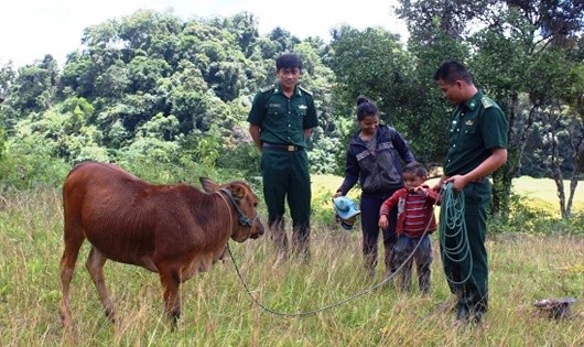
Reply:
M381 26L407 39L405 24L392 13L397 0L9 0L0 10L0 66L18 68L51 54L60 65L82 47L86 28L122 19L140 9L172 10L184 20L253 13L260 34L280 26L303 40L331 40L329 30L348 24Z

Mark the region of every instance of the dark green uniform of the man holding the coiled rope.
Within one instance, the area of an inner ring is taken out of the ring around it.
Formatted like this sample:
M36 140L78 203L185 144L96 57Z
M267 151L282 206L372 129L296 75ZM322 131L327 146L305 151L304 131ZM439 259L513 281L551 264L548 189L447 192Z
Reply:
M450 127L450 149L444 165L446 176L464 175L491 154L491 150L507 148L507 119L499 106L479 90L471 100L459 105L453 113ZM464 187L468 247L464 252L451 258L445 249L464 243L464 236L455 230L444 230L448 237L441 237L441 256L451 291L458 295L458 308L475 311L478 314L488 307L488 263L485 248L487 232L487 207L490 203L491 185L483 177ZM444 212L444 208L442 209ZM442 215L441 219L445 220Z

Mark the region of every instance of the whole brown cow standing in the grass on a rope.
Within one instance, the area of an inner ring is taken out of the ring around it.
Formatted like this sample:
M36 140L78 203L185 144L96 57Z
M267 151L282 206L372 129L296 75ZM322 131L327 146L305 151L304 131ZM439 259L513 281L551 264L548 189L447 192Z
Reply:
M65 250L61 259L61 317L72 327L69 284L79 248L91 250L86 267L106 315L115 310L104 280L108 259L158 272L164 288L166 314L181 314L179 286L206 271L223 256L229 237L242 242L258 238L258 197L248 184L217 185L201 178L205 192L186 184L152 185L113 164L76 165L63 186Z

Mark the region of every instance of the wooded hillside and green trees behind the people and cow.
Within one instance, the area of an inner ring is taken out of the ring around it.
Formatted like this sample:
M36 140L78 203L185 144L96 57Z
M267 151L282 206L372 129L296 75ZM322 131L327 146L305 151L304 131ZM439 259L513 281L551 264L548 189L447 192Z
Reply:
M509 161L493 176L491 213L504 229L512 229L521 175L555 182L558 209L539 218L573 219L584 165L584 3L401 0L397 14L407 44L381 28L343 25L325 42L282 28L260 35L247 12L183 20L140 10L87 28L62 67L51 55L0 65L1 189L58 187L88 159L154 182L194 182L194 173L257 182L246 118L283 52L302 56L302 84L316 100L312 173L343 175L358 95L376 100L417 159L437 167L452 105L432 77L454 58L508 116Z

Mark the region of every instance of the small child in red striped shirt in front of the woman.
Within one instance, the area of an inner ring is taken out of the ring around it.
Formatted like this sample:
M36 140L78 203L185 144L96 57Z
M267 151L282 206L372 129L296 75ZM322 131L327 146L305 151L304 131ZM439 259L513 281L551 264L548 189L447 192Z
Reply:
M379 227L387 228L389 213L398 208L398 241L393 246L392 268L388 275L398 272L400 288L410 291L412 264L415 261L422 293L430 292L432 247L429 235L436 230L434 204L439 197L435 191L424 184L426 180L428 172L422 164L409 163L403 169L404 187L386 199L379 209Z

